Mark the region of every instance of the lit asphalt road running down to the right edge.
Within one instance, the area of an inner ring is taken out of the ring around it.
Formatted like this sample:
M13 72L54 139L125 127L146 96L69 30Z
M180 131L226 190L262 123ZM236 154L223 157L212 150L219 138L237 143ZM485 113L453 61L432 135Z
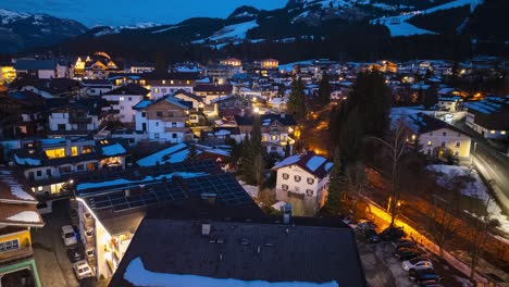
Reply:
M509 212L509 158L493 148L485 138L463 122L454 124L472 137L471 154L480 174L489 183L499 205Z

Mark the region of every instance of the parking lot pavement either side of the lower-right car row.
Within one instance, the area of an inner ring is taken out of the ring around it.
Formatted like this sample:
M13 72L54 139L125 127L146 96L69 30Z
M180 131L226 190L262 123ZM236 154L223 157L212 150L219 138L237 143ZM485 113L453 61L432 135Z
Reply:
M378 230L380 232L380 230ZM356 232L359 253L364 267L365 277L371 287L414 287L418 286L409 278L409 273L401 267L401 261L395 258L396 248L389 242L381 240L369 244L363 232ZM418 246L419 247L419 246ZM433 269L443 279L442 286L468 287L468 279L458 271L450 267L439 258L420 248L422 257L433 262Z

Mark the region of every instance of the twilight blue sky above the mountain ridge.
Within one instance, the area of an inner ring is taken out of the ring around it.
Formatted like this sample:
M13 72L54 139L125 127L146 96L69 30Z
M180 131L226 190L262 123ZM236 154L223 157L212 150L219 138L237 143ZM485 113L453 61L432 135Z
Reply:
M288 0L0 0L0 8L45 13L86 26L174 24L195 16L226 17L240 5L272 10Z

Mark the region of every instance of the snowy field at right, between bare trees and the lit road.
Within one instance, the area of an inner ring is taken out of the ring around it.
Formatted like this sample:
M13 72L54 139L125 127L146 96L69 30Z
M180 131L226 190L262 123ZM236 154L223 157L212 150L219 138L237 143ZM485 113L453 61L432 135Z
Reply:
M450 178L452 177L469 175L469 167L467 166L435 164L429 165L427 170L437 172L439 174L438 184L442 186L446 186L448 183L450 183ZM489 217L492 220L497 220L500 223L498 228L506 234L509 234L509 220L502 213L497 202L491 199L488 190L479 176L479 173L476 171L472 171L470 176L474 180L468 183L461 190L461 194L468 197L481 199L484 202L489 200L487 204L487 212L489 213Z

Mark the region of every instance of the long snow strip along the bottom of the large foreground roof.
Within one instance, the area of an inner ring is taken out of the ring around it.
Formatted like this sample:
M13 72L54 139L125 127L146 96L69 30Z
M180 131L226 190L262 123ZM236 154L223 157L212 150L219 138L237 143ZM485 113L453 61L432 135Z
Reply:
M239 280L232 278L212 278L198 275L179 275L171 273L157 273L145 269L140 258L129 262L124 273L124 279L135 286L160 287L339 287L336 282L307 283L307 282L264 282Z

